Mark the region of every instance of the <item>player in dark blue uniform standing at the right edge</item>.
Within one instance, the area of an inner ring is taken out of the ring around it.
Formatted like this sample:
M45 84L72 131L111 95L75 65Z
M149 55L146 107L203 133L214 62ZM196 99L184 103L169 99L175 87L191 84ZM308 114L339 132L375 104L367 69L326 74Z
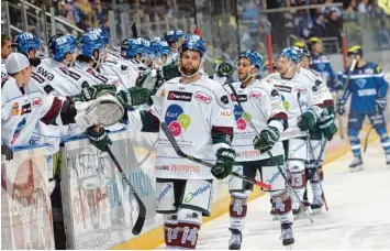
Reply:
M380 142L386 153L386 163L390 165L390 140L386 129L383 111L387 106L389 84L383 78L383 72L377 64L363 59L363 50L355 45L348 48L348 57L356 59L357 64L350 73L350 81L342 98L338 100L337 112L345 112L345 103L352 95L348 138L354 160L349 165L350 171L363 168L361 144L359 131L366 116L380 137ZM349 67L343 74L344 80L348 78Z

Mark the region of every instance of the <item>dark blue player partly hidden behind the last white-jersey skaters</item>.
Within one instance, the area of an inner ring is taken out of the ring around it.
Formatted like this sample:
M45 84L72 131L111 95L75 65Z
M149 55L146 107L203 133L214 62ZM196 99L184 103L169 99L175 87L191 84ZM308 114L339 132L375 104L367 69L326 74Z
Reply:
M326 86L331 91L335 91L336 77L331 65L330 57L323 54L324 47L319 37L311 37L309 47L312 53L312 68L321 74L321 77L326 81Z

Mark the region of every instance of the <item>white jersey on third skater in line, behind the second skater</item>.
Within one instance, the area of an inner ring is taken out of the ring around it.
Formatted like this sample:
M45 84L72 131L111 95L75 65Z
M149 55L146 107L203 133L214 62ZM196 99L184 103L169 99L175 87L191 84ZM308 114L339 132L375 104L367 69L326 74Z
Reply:
M274 73L264 80L279 90L288 114L289 128L281 134L280 140L307 135L305 131L301 132L298 128L298 118L310 108L313 108L320 118L323 103L320 88L303 74L296 74L291 79L286 79L279 73Z

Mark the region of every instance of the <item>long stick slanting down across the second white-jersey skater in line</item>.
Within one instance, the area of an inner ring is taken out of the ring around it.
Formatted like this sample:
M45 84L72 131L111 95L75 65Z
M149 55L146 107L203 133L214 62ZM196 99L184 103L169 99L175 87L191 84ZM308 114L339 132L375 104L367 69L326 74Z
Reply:
M229 85L229 87L230 87L231 90L233 91L234 97L235 97L235 99L236 99L236 102L238 103L241 111L244 113L244 116L245 116L246 120L248 121L248 123L250 124L252 129L255 131L256 135L257 135L258 138L260 138L260 134L259 134L258 131L256 130L255 124L253 124L252 119L247 116L247 113L245 112L243 106L241 105L241 101L239 101L239 99L238 99L238 95L237 95L237 92L235 91L233 85L232 85L231 83L226 83L226 85ZM283 179L285 179L287 186L289 187L289 189L292 192L292 194L296 196L296 198L298 199L299 204L300 204L301 207L303 208L304 215L308 217L308 219L310 220L310 222L314 223L313 218L310 216L310 214L308 212L308 210L305 210L307 207L305 207L304 204L302 203L301 198L298 196L297 192L294 192L294 190L292 189L292 186L291 186L289 179L287 178L287 176L286 176L283 170L279 166L278 162L275 160L272 153L270 153L270 152L268 151L267 154L269 155L270 160L274 162L274 164L275 164L276 167L278 168L278 172L279 172L280 175L283 177Z

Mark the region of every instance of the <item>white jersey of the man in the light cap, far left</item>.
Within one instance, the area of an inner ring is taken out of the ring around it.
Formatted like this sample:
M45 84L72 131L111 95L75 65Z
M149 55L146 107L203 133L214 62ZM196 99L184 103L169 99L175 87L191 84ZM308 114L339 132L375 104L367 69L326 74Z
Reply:
M1 83L1 141L7 145L30 145L30 139L40 121L54 120L62 124L62 99L46 95L36 83L19 88L11 76Z

